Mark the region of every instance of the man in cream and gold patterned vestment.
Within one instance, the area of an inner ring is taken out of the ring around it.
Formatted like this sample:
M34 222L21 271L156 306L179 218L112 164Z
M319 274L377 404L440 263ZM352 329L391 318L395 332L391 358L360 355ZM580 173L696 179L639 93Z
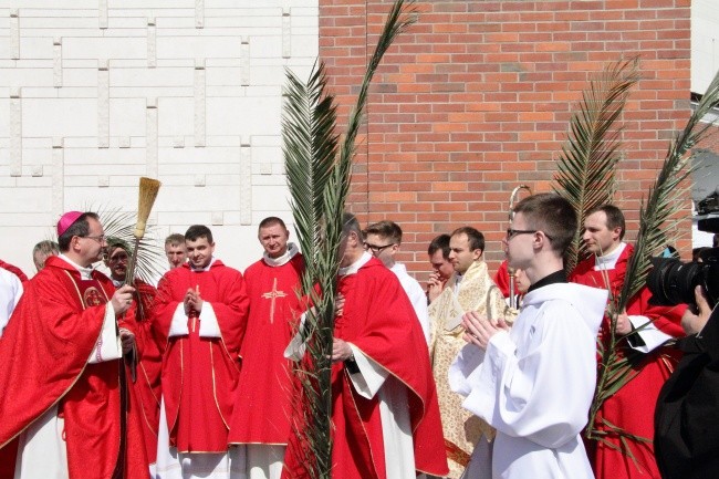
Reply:
M493 437L486 421L461 408L461 396L449 388L447 381L449 365L466 344L461 316L476 311L498 321L511 312L483 261L484 236L472 227L458 228L450 235L449 248L449 261L455 272L439 298L429 304L433 331L429 351L449 459L448 477L456 479L469 462L475 445ZM511 317L507 320L511 321Z

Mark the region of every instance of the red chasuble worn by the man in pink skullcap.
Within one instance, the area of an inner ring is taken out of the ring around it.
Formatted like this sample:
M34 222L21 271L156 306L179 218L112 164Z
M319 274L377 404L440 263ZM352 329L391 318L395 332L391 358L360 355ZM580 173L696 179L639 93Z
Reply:
M58 405L65 420L71 479L110 479L122 469L118 477L149 477L132 388L122 397L121 383L128 381L121 378L122 362L87 363L113 292L107 277L93 272L93 280L83 281L59 257L48 258L45 268L25 283L0 339L0 448L11 447L28 426ZM132 322L121 325L134 330Z

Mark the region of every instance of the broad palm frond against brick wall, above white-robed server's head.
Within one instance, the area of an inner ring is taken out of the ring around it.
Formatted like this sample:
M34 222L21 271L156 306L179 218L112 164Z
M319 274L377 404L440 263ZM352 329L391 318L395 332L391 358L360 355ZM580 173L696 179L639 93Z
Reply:
M618 122L629 91L639 81L637 66L636 56L608 64L591 80L582 93L579 111L572 115L553 189L570 201L580 225L586 211L612 200L615 168L622 158L623 127ZM585 257L577 230L565 257L566 271L572 271Z

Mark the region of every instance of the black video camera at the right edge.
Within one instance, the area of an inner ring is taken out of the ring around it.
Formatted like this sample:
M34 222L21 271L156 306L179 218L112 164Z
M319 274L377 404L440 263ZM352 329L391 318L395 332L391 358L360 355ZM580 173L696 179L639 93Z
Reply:
M719 232L719 212L702 215L700 231ZM654 269L647 275L652 303L675 305L694 304L694 290L701 285L711 308L719 301L719 248L699 253L699 261L682 262L675 258L652 258Z

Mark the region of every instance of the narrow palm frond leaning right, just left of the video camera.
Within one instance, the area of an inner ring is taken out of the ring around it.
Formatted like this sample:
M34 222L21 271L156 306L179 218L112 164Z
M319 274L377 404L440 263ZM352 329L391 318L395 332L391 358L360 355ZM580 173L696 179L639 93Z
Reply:
M623 336L616 333L617 314L625 311L629 300L646 284L652 256L657 254L668 242L676 239L669 237L667 226L674 222L671 219L676 218L679 212L680 198L686 190L681 184L695 169L687 152L709 133L712 124L702 123L702 118L718 105L719 73L712 80L684 131L671 142L657 179L649 189L648 199L646 202L642 201L639 207L639 231L634 253L627 264L622 291L617 298L611 301L607 311L612 321L609 339L606 346L600 348L600 377L590 409L586 433L588 438L603 440L602 431L596 428L595 424L597 413L606 399L636 376L636 372L632 367L633 353L622 346L624 344ZM615 428L613 433L621 439L627 437L640 440L650 439L633 437L619 428ZM622 444L626 444L626 441L623 440ZM634 459L628 448L624 448L624 452Z

